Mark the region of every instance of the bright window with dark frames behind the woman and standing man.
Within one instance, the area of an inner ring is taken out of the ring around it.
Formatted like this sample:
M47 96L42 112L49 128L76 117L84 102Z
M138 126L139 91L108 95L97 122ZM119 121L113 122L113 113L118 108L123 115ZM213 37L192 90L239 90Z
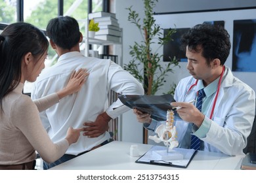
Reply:
M58 15L72 16L77 20L86 19L89 10L102 11L104 10L103 3L106 2L109 3L106 0L4 0L0 2L0 33L7 25L18 20L45 30L49 20ZM19 10L17 5L19 5ZM63 11L61 12L60 9ZM84 25L79 24L81 33L84 33ZM56 63L57 58L56 52L49 46L45 67ZM32 85L26 82L24 93L30 93Z

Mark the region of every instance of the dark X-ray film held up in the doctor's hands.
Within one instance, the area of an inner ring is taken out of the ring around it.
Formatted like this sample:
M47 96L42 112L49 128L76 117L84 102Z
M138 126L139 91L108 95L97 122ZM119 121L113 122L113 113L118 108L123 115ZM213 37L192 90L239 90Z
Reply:
M129 108L137 108L141 112L151 114L157 121L166 120L166 111L172 110L170 105L175 99L173 95L118 95L120 101Z

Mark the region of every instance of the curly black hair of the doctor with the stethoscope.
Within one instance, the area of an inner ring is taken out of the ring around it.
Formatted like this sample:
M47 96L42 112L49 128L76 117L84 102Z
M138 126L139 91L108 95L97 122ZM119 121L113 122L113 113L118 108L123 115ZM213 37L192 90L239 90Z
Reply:
M220 59L221 65L224 65L230 53L231 43L230 35L221 25L198 24L192 27L181 38L182 48L199 52L198 46L201 46L202 56L209 64L213 59Z

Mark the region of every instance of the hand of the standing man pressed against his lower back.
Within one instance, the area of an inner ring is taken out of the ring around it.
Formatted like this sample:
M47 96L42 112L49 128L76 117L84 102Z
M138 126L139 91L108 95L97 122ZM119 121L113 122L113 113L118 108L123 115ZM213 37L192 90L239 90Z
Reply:
M83 136L88 136L89 138L98 137L108 131L109 126L108 122L111 120L110 116L106 114L106 112L98 115L95 122L85 122L83 125L87 127L83 127Z

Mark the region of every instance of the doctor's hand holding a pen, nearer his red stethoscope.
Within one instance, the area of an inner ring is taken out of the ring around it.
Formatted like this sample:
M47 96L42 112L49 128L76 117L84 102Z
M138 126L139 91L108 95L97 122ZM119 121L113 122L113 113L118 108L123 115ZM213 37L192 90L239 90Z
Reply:
M177 109L177 113L181 117L182 120L186 122L193 123L200 127L204 120L204 114L198 110L192 103L186 102L173 102L171 103L173 107L181 107Z

